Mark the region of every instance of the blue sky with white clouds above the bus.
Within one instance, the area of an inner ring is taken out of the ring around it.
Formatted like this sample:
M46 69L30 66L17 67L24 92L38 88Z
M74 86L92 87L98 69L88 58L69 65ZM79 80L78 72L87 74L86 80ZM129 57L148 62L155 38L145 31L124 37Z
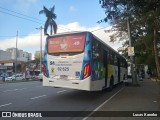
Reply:
M39 14L43 6L48 9L55 6L55 19L58 33L70 31L90 31L117 50L120 43L110 43L111 33L108 23L98 24L105 17L99 0L0 0L0 49L16 47L17 45L34 55L40 50L40 26L44 26L46 16ZM42 35L44 49L46 36Z

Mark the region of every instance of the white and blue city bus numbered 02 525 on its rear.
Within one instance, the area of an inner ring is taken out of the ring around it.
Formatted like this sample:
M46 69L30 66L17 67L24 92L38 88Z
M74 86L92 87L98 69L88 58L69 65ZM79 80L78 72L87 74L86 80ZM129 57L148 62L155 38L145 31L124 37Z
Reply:
M43 86L86 91L112 89L127 78L127 62L91 32L46 38Z

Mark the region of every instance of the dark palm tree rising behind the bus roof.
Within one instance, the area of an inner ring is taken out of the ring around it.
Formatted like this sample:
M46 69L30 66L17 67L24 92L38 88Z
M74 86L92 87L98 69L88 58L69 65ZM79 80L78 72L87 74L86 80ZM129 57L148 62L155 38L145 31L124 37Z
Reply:
M51 27L50 35L52 35L52 27L53 27L53 30L54 30L54 34L57 33L57 24L54 21L54 19L56 19L57 16L54 13L54 9L55 9L55 6L50 8L50 10L48 10L45 6L43 6L43 10L39 11L39 14L45 14L46 17L47 17L47 20L46 20L45 25L44 25L44 34L45 35L49 35L47 33L47 29L48 29L49 25Z

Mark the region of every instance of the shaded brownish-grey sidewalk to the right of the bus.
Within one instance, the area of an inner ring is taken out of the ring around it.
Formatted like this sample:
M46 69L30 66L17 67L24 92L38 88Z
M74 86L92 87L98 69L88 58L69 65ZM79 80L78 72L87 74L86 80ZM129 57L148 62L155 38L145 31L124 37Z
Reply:
M134 111L142 111L142 113L145 111L159 111L160 113L160 82L153 79L145 79L144 81L139 81L139 84L140 86L137 87L125 86L124 89L107 101L98 111L133 111L133 113ZM122 114L125 115L125 112L122 112ZM89 117L87 120L97 119L160 120L160 117Z

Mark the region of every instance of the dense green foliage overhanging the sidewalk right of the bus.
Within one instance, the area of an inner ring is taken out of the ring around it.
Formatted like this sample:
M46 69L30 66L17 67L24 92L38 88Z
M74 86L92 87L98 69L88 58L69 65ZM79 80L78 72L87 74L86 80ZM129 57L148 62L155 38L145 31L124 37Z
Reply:
M160 0L99 0L99 2L105 10L106 17L98 23L110 22L112 25L114 23L112 30L117 31L111 35L110 41L123 41L125 49L121 53L128 58L126 19L129 17L136 63L155 67L153 43L157 44L160 39L158 38L156 43L153 31L155 29L157 32L160 31Z

